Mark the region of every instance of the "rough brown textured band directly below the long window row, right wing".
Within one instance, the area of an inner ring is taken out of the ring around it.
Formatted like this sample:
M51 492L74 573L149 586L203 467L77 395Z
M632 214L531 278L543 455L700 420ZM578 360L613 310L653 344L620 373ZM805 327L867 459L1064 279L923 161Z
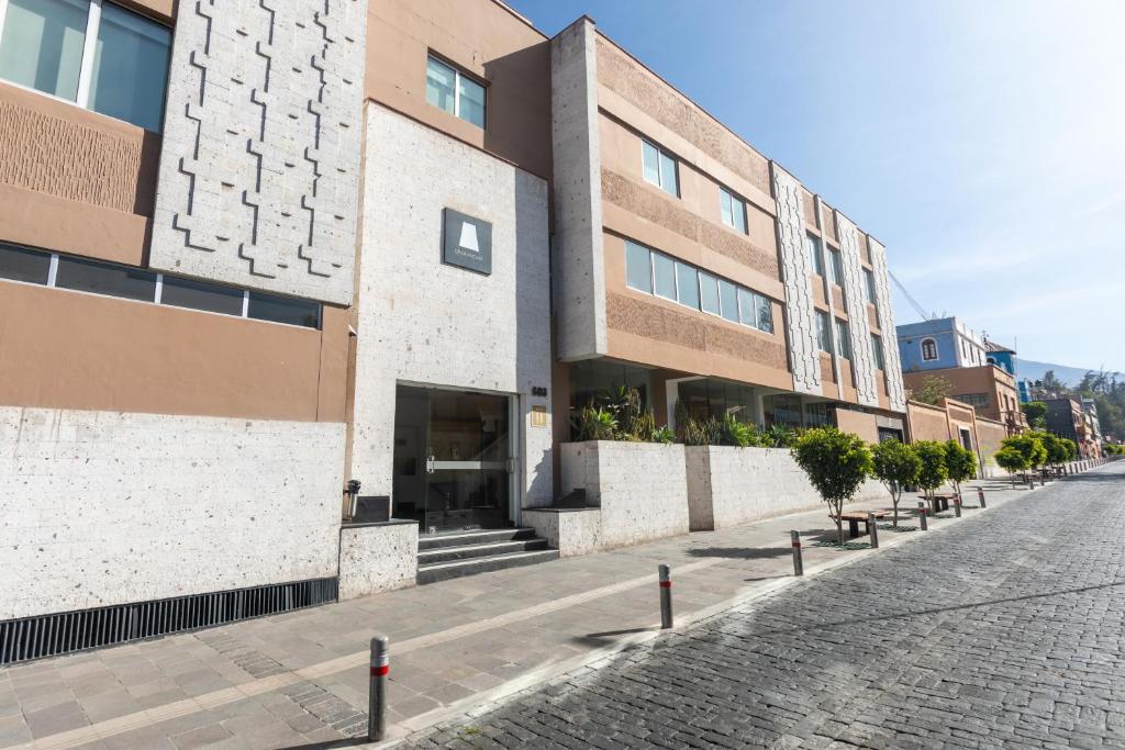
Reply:
M610 328L701 352L785 369L785 347L759 334L709 322L702 313L681 313L628 295L611 293L606 302Z

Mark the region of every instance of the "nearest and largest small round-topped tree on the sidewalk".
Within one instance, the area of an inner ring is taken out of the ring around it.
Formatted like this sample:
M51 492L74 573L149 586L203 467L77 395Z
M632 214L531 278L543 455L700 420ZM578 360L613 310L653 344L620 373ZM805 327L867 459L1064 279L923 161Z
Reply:
M835 427L809 430L793 443L793 459L828 504L828 517L836 524L836 539L844 545L844 504L855 496L874 467L871 451L857 435Z

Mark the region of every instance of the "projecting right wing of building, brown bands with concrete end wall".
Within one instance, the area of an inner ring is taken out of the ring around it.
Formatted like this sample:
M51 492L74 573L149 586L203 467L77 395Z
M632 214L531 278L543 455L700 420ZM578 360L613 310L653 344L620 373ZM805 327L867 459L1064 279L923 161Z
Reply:
M556 414L628 385L660 423L901 436L883 246L588 18L551 54Z

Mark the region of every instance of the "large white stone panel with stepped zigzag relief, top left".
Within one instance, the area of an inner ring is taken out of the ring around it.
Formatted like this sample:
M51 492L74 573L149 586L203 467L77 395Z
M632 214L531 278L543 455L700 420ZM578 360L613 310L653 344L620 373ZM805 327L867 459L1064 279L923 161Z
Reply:
M151 262L352 298L367 0L183 2Z

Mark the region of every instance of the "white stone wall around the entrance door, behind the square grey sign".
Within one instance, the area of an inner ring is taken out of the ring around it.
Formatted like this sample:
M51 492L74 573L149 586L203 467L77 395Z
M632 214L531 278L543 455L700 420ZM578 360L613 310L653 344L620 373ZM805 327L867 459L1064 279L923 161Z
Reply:
M367 144L352 476L392 494L397 383L507 394L522 503L549 504L550 400L532 395L551 385L547 183L375 102ZM492 224L490 274L442 263L447 208Z

